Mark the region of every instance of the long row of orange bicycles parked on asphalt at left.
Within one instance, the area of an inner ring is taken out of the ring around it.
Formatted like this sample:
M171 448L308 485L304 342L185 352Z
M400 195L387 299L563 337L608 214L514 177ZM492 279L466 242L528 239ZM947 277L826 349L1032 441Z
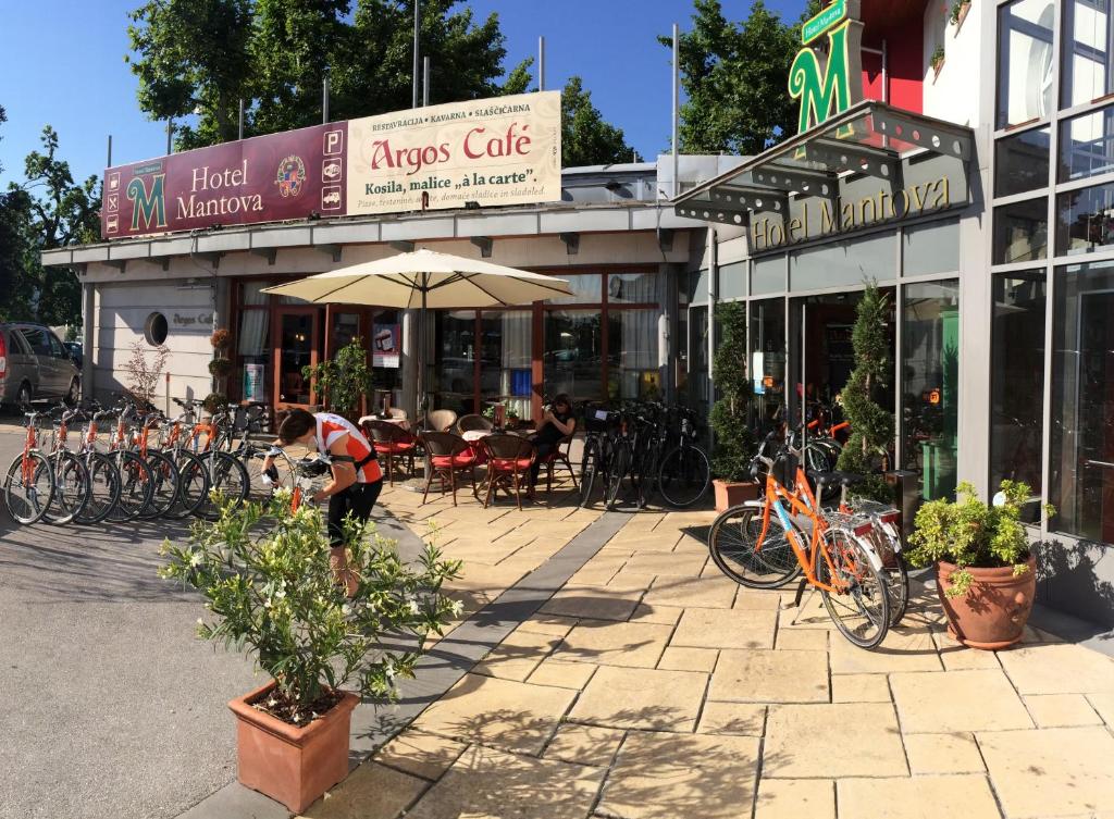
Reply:
M299 462L252 440L266 425L265 407L229 406L202 420L199 402L174 401L182 409L174 418L128 400L25 407L23 450L3 478L11 517L25 525L215 519L213 490L238 505L276 486L296 488ZM268 456L274 466L264 471Z

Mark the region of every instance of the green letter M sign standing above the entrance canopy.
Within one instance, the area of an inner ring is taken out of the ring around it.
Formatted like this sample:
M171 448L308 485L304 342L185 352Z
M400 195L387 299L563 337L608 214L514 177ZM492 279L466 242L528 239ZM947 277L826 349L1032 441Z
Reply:
M808 20L801 42L789 69L789 92L801 100L799 134L862 100L859 0L836 0Z

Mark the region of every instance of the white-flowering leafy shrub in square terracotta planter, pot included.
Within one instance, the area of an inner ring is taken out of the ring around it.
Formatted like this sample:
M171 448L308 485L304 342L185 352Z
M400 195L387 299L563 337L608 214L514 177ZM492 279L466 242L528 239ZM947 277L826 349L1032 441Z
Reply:
M267 506L223 504L219 519L196 524L186 545L163 545L159 575L205 597L197 636L251 652L272 677L228 703L238 778L295 813L348 776L360 698L393 699L426 636L459 613L440 594L459 563L427 545L414 571L371 526L349 518L344 534L359 581L351 597L330 568L320 509L291 511L289 490ZM389 647L400 644L405 650Z

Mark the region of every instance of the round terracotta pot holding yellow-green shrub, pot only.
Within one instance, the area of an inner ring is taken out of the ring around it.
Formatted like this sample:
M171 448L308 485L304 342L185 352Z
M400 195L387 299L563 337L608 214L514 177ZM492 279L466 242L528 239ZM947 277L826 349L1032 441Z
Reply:
M944 613L948 617L948 633L971 649L996 651L1013 645L1033 611L1037 589L1037 560L1030 556L1028 572L1014 576L1013 566L1004 568L974 568L970 592L960 597L948 597L951 587L948 577L957 566L941 560L936 567L937 592Z

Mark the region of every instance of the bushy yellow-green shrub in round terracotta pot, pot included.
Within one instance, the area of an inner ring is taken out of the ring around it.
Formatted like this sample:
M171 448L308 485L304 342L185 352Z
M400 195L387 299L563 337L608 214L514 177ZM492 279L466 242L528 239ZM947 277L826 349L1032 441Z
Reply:
M917 511L906 557L936 564L948 633L964 645L997 650L1022 637L1036 593L1036 557L1020 523L1028 499L1029 487L1013 480L1001 481L993 505L960 484L955 501L930 500Z

